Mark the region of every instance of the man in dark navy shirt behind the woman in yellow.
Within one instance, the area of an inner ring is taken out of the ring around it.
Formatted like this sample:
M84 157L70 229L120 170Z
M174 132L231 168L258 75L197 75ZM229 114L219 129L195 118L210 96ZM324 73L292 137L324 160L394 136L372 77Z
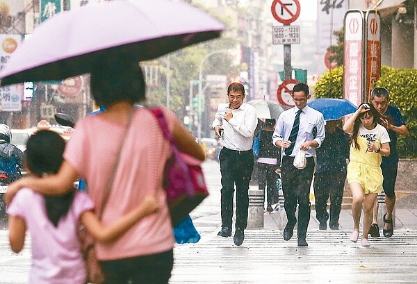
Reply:
M389 105L389 91L384 87L377 87L370 93L370 101L373 106L382 115L382 124L388 131L391 142L391 155L382 157L381 169L384 176L382 187L385 192L386 214L384 215L384 228L382 233L384 237L393 235L393 210L395 206L395 181L398 171L398 151L397 136L407 136L409 131L402 118L400 110L396 106ZM373 237L379 237L379 227L377 225L378 203L375 203L373 224L370 228L370 234ZM376 226L375 226L376 225Z

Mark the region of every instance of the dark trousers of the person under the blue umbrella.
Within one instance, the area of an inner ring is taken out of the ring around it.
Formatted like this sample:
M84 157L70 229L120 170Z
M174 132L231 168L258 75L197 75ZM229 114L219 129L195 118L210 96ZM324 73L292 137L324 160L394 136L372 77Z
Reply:
M337 225L341 214L343 188L345 187L346 171L325 171L314 176L314 197L316 198L316 217L318 222ZM327 212L327 199L330 198L330 215Z

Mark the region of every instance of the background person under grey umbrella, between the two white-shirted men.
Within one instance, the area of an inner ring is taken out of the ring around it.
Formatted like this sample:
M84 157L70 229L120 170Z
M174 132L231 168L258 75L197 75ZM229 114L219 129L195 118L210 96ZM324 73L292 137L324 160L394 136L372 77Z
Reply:
M262 129L259 133L259 157L256 159L259 169L259 190L264 192L264 203L266 196L268 212L272 212L273 203L278 202L277 169L281 162L281 149L275 147L272 141L272 135L275 129L275 119L265 119Z

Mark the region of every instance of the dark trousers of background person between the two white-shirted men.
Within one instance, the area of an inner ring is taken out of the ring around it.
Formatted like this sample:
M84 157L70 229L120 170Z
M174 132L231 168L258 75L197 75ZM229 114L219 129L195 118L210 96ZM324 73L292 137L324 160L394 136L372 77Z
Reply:
M275 172L275 169L277 169L277 165L263 164L262 162L258 162L259 190L263 190L263 200L265 201L266 196L266 203L268 206L271 206L272 203L278 202L277 178L279 178L279 176ZM277 200L273 200L274 197Z

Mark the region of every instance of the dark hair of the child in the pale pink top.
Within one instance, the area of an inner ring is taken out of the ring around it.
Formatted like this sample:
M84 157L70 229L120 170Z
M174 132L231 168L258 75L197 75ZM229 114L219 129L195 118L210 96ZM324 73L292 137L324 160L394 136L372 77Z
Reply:
M54 131L38 131L26 144L26 166L35 176L56 174L63 163L65 141ZM61 217L67 215L74 199L74 190L61 196L44 196L47 217L58 226Z

